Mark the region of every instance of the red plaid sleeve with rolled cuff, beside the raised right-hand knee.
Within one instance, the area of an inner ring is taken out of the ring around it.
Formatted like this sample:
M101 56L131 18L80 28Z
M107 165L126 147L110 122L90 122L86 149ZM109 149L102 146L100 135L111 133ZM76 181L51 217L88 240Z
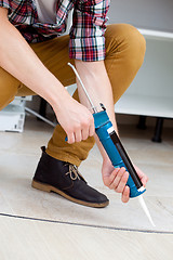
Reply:
M69 57L85 62L105 60L105 30L110 0L75 1Z

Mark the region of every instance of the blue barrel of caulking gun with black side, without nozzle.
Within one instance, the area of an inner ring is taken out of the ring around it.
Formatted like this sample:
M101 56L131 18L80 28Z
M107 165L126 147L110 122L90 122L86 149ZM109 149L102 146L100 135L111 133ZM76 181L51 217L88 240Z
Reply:
M130 197L137 197L146 190L143 186L124 147L122 146L106 109L94 113L95 132L109 156L115 168L124 167L129 172L127 185L130 187Z

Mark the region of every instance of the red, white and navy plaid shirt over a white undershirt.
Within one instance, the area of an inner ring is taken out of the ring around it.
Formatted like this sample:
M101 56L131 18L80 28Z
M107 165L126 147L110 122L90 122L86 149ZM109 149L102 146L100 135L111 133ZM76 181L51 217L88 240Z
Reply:
M69 57L88 62L105 58L104 34L109 3L110 0L57 0L56 24L42 24L34 0L0 0L0 6L9 11L9 21L28 42L61 36L66 31L68 12L74 9Z

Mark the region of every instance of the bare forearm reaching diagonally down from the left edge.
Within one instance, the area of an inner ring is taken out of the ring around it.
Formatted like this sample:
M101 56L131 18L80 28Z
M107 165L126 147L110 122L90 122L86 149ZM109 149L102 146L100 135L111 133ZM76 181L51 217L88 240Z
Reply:
M68 94L67 91L8 21L4 11L0 9L0 66L51 105L61 103L61 99Z

